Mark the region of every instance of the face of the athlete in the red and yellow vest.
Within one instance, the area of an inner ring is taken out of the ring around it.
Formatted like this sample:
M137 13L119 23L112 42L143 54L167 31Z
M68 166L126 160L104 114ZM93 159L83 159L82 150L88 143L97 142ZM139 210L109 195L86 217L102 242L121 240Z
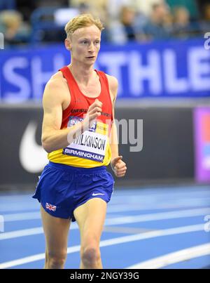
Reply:
M71 60L93 65L100 49L101 31L96 25L76 29L71 39L66 39Z

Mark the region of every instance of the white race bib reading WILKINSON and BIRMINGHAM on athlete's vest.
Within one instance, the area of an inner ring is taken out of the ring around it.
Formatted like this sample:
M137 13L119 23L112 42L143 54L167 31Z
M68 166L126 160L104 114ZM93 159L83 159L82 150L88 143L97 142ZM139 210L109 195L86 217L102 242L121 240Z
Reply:
M70 117L68 127L83 121L82 118ZM103 162L108 143L108 125L94 122L88 131L84 131L78 138L65 147L63 154Z

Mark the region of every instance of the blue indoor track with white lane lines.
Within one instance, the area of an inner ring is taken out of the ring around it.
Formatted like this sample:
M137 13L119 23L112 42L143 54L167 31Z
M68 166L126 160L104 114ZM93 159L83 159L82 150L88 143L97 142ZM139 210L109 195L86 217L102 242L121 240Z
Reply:
M40 207L29 193L0 195L0 268L43 268ZM113 192L101 239L104 268L209 268L210 188L121 188ZM65 268L80 263L71 223Z

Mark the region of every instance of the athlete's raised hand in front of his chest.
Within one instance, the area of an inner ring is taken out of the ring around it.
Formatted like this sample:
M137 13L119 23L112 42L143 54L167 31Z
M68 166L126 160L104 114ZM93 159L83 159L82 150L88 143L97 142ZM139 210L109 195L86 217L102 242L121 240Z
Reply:
M98 99L94 100L94 103L90 105L87 110L85 119L83 120L84 128L89 129L94 121L102 114L102 102Z

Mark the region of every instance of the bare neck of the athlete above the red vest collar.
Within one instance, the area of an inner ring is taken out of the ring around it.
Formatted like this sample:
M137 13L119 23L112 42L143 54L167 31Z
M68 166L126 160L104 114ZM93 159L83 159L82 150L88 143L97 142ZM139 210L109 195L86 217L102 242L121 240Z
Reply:
M68 67L76 81L85 86L87 86L91 79L96 75L93 66L84 67L83 65L74 65L71 63Z

